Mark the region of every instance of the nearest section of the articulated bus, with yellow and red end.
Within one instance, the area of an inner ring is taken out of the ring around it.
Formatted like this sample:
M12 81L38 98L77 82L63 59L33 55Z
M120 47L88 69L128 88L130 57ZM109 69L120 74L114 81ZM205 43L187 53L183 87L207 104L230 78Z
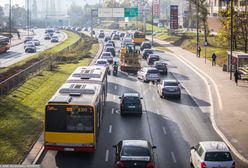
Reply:
M99 84L63 84L45 108L44 149L94 152L103 114L103 94Z

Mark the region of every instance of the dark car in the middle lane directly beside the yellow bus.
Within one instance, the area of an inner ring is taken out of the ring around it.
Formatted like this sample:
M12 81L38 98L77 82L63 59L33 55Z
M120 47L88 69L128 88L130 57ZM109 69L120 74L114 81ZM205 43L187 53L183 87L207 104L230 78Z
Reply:
M120 114L136 114L142 116L142 103L138 93L124 93L120 99Z

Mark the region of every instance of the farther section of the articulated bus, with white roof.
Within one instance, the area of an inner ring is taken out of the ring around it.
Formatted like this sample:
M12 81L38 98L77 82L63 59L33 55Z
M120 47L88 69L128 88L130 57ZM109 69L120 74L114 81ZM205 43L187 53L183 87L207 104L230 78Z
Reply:
M103 66L79 66L66 80L66 83L97 83L102 86L104 100L107 98L108 70Z

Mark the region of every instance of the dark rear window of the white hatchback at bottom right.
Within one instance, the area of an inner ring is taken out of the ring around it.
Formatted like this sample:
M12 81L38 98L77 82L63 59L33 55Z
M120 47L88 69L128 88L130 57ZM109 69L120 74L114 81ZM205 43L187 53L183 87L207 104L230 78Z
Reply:
M230 152L207 152L205 161L232 161Z

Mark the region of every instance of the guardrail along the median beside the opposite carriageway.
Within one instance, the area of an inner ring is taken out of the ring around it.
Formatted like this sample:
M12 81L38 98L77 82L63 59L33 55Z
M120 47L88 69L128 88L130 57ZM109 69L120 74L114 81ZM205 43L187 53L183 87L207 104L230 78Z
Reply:
M75 33L75 32L74 32ZM82 34L76 33L80 35L80 39L77 40L72 45L64 48L63 50L56 53L56 55L64 54L72 49L74 49L76 46L78 46L82 41ZM51 56L45 57L44 59L32 64L31 66L25 68L24 70L18 72L17 74L9 77L8 79L2 81L0 83L0 96L9 93L10 90L17 87L21 83L24 83L28 78L31 76L34 76L41 71L43 71L45 68L50 66Z

